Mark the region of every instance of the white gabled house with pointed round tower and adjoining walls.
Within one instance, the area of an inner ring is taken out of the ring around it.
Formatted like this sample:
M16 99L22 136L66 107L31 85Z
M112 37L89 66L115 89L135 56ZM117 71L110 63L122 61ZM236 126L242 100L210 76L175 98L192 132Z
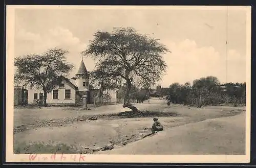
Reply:
M88 96L88 103L94 103L99 89L90 89L90 73L82 60L75 78L62 77L59 85L47 93L47 104L80 104L82 103L82 95ZM102 101L117 102L117 89L104 89L102 92ZM44 100L44 91L28 88L28 103L35 104L38 100Z

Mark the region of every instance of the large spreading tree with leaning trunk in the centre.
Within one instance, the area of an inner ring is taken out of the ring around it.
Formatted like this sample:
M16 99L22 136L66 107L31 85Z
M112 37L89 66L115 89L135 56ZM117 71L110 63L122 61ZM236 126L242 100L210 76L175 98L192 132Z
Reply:
M162 59L168 49L156 39L139 34L133 28L97 31L83 55L96 60L91 77L104 86L125 85L123 107L140 112L130 102L132 86L150 86L160 80L166 64Z

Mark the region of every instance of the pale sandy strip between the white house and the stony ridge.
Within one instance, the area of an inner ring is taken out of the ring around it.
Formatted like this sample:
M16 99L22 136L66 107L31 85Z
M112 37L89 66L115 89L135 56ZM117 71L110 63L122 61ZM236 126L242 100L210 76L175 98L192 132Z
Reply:
M162 101L152 100L150 104L135 104L140 110L157 110ZM91 110L84 110L81 107L40 107L40 108L15 108L14 127L26 124L33 124L41 119L57 119L66 117L77 117L80 115L111 114L123 111L130 111L123 108L122 104L94 107L90 104Z

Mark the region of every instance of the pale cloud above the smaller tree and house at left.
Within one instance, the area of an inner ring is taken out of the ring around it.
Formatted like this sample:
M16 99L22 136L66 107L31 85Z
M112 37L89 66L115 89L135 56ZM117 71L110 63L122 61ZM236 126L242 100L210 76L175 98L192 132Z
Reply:
M73 33L61 27L47 30L45 33L36 34L17 30L15 34L15 56L27 54L40 54L53 47L59 47L69 51L67 61L74 64L71 76L74 76L81 61L80 52L86 49L87 44L80 41ZM94 61L90 58L84 59L88 70L93 70Z

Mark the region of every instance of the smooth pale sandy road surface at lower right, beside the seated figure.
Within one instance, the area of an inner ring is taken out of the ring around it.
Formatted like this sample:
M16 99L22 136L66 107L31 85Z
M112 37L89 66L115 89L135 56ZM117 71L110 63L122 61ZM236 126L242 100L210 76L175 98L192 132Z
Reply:
M245 113L178 126L99 154L245 155Z

